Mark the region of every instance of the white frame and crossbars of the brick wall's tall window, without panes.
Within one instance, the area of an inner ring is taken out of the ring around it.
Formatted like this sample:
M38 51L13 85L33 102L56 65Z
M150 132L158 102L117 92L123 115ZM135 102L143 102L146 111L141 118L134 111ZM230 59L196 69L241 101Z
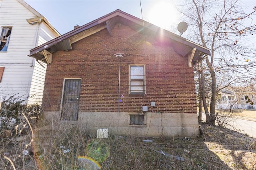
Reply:
M132 69L131 67L143 67L143 74L137 75L139 78L133 78L132 76L136 76L134 74L131 73ZM142 77L142 78L141 78ZM143 89L132 89L132 87L135 87L136 85L132 85L132 82L142 82L143 85ZM135 92L137 90L137 92ZM132 64L129 65L129 94L146 94L146 70L145 70L145 65L142 64Z

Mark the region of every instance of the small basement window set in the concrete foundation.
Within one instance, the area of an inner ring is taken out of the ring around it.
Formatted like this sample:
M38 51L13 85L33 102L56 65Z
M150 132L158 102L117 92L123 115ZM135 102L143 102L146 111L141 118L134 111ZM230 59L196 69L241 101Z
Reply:
M143 119L142 119L143 117ZM143 121L143 122L141 122ZM129 113L129 126L132 127L145 127L146 114L144 113Z

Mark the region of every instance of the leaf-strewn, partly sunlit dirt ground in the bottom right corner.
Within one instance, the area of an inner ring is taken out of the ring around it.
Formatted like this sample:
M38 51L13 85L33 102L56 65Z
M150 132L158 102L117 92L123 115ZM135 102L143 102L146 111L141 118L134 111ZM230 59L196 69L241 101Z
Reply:
M202 128L207 148L230 169L256 170L256 138L222 127Z

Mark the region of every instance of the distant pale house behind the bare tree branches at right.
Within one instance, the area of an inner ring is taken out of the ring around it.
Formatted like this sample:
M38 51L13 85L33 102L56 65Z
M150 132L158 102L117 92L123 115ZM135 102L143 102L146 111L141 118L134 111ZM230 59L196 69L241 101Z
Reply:
M253 105L251 105L253 103ZM256 109L256 86L227 87L220 91L216 109Z

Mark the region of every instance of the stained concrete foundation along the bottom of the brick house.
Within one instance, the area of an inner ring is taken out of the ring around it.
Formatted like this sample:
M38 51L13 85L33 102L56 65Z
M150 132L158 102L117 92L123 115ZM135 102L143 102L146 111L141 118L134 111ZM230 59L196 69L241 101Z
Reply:
M124 136L196 137L199 134L196 114L147 112L144 125L130 125L130 114L136 113L84 112L78 114L78 121L62 122L79 123L90 134L96 134L101 128L108 128L110 135ZM54 123L60 120L60 113L44 112L44 119Z

